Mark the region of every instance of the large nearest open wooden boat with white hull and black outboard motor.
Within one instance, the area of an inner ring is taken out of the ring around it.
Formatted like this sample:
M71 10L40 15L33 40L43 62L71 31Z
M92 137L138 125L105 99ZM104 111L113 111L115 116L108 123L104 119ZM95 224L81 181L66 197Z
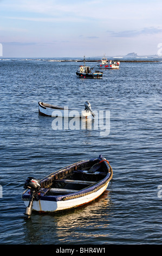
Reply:
M30 218L32 211L57 212L87 204L106 190L112 176L111 165L100 155L70 164L42 180L28 177L22 194L25 217Z

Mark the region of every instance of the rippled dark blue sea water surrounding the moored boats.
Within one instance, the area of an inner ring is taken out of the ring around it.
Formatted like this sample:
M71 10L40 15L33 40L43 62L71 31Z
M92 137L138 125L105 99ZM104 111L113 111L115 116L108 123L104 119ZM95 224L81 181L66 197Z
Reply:
M79 65L0 60L0 243L162 244L162 62L122 62L99 80L78 78ZM38 114L38 101L84 109L86 100L95 111L110 111L106 135L93 127L53 130L53 118ZM42 179L100 154L113 168L100 198L64 214L33 213L24 220L21 195L28 176Z

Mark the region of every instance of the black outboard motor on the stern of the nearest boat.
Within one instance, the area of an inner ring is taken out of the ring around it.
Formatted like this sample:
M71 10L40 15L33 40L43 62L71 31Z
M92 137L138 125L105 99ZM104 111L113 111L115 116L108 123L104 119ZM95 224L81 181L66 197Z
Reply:
M38 191L40 190L41 182L33 177L28 177L24 183L24 188L28 188L30 190L30 202L25 210L25 215L27 218L30 218L31 212L33 209L33 200L37 199Z

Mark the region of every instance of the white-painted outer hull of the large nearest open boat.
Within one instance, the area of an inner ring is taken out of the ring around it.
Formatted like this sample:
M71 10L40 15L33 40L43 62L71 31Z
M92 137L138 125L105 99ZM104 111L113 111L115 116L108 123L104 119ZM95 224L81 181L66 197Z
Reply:
M77 206L87 204L94 199L98 198L101 196L101 194L106 190L109 182L103 187L101 187L98 191L90 193L86 196L83 197L78 197L74 199L69 199L65 201L46 201L46 200L38 200L33 202L33 210L38 211L38 212L55 212L55 211L62 211L62 210L67 210L70 208L75 208ZM24 201L25 206L28 206L29 201Z

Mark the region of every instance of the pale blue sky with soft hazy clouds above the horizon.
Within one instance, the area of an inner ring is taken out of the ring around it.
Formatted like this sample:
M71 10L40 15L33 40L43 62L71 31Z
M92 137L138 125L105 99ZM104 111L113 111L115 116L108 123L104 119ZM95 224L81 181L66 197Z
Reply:
M161 0L0 0L0 55L157 54L161 13Z

